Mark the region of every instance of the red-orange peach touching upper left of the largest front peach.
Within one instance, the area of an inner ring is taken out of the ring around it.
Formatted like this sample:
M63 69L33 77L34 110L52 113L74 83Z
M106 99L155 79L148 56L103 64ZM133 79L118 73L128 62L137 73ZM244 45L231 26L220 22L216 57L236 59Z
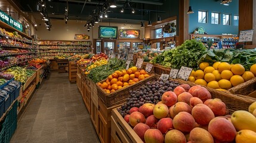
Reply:
M192 116L199 125L208 125L208 123L214 119L214 113L211 108L205 104L198 104L192 108Z

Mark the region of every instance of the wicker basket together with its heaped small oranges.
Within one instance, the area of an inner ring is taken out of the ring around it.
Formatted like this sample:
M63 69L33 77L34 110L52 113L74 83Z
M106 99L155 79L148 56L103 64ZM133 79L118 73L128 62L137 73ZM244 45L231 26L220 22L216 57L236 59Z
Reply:
M150 75L145 70L138 70L137 67L116 70L107 79L96 84L98 96L107 107L122 104L128 97L129 90L135 89L153 78L155 75Z

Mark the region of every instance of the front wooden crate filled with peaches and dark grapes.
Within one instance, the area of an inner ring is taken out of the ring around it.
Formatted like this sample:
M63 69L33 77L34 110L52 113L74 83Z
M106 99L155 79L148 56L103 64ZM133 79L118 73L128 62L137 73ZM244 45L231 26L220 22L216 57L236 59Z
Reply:
M127 102L113 110L112 136L116 142L256 141L255 99L208 91L200 85L190 88L187 84L175 85L160 97L141 97L144 90L154 92L150 89L153 85L165 83L149 82L130 91ZM146 101L137 106L136 98Z

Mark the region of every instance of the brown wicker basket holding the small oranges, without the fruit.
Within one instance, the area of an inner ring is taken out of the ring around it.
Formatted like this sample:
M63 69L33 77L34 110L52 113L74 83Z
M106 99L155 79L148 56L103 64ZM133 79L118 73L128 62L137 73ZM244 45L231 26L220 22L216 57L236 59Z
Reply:
M110 94L107 94L98 84L95 84L97 86L97 93L98 97L101 98L101 100L104 102L106 107L112 107L114 105L119 105L125 102L127 98L129 97L129 91L133 91L143 85L144 83L155 79L156 76L152 74L151 76L147 77L146 79L143 79L133 85L127 86L125 88L119 89L118 91L112 92ZM105 79L106 80L106 79ZM103 83L105 80L101 80L100 83Z

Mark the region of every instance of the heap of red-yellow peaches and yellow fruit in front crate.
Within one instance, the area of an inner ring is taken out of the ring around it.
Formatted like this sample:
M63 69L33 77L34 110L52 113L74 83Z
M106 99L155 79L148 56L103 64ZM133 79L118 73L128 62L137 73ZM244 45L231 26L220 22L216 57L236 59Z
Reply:
M156 105L132 107L124 119L146 143L256 142L256 118L240 112L231 116L226 104L211 99L207 89L182 84L164 92Z

